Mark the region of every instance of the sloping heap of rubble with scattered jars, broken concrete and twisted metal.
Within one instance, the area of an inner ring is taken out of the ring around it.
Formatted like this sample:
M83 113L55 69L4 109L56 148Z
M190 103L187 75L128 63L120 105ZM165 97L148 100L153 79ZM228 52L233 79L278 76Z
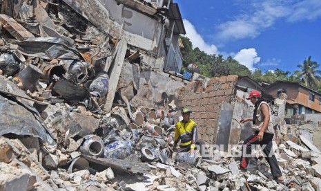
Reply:
M108 73L115 55L146 70L142 50L122 50L63 1L0 5L0 190L321 189L321 152L302 135L289 140L291 129L275 144L284 183L259 150L240 171L241 144L208 146L209 159L177 153L174 101L133 107L124 96L132 86L108 91L118 83Z

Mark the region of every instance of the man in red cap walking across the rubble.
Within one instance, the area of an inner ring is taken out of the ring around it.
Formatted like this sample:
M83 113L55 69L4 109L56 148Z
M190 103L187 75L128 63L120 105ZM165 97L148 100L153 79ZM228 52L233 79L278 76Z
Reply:
M275 181L283 181L282 172L275 158L272 139L274 136L273 123L270 122L270 107L267 102L261 98L260 91L253 90L246 100L251 100L254 104L253 118L243 118L240 122L253 122L254 134L244 140L244 147L246 147L246 155L251 154L252 145L261 145L263 147L264 158L269 163L271 173ZM243 148L244 148L243 147ZM243 149L244 151L244 149ZM242 154L241 168L246 169L249 163L249 156Z

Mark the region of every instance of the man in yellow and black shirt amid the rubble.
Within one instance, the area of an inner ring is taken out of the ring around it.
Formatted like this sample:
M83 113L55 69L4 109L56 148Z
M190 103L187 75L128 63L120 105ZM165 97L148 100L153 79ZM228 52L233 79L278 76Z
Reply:
M178 152L190 152L191 154L194 154L196 145L199 145L200 153L202 154L202 145L204 145L204 141L197 140L196 122L190 119L191 112L192 111L186 107L182 109L183 120L177 122L175 126L173 148L175 148L179 140L181 140Z

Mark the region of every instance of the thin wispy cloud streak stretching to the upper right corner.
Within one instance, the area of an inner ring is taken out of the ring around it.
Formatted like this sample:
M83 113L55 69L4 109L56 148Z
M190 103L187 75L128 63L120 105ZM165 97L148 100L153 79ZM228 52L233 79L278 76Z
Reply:
M216 37L224 41L254 38L279 19L301 21L321 17L320 0L262 0L250 4L245 13L217 26Z

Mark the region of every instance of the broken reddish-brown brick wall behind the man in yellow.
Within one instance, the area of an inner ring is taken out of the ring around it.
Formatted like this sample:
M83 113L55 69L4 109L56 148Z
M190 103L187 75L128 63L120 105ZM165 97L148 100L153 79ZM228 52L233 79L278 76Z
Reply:
M215 143L220 107L222 102L231 102L235 93L237 75L212 78L206 87L202 82L193 82L179 93L177 109L188 107L191 119L197 122L199 138L206 143Z

